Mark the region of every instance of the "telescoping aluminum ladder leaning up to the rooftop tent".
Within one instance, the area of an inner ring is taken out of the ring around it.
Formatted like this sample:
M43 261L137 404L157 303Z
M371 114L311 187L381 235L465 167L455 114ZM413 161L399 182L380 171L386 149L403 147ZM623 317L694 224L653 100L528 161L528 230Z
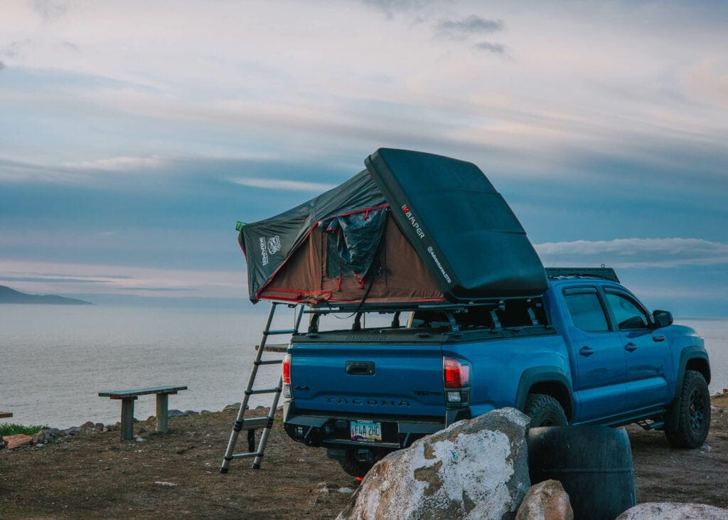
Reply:
M271 329L273 316L275 314L276 308L279 305L293 307L293 328L283 330ZM240 411L237 412L237 419L235 419L235 424L233 425L232 433L230 434L230 441L228 442L228 447L226 449L225 457L223 459L223 465L220 468L220 473L227 473L230 467L230 462L232 462L232 460L234 459L253 458L253 469L260 469L263 452L265 451L266 444L268 442L268 436L270 435L270 431L273 428L273 419L275 417L276 409L278 408L278 400L280 399L283 381L282 377L279 377L278 385L274 388L256 389L253 387L253 385L255 385L256 382L256 376L258 375L259 366L280 365L282 363L282 360L280 359L271 359L266 361L261 359L263 357L263 352L266 352L266 342L268 340L268 336L280 334L288 334L290 336L292 334L296 334L298 332L298 326L301 323L301 316L304 314L303 310L304 308L302 305L271 302L271 308L268 312L268 319L266 320L266 326L263 330L263 336L261 337L261 342L258 345L255 361L253 361L253 368L250 369L248 387L245 388L245 395L243 395L242 403L240 403ZM250 419L245 419L245 410L248 409L248 401L250 400L250 395L258 395L264 393L273 394L271 407L268 410L268 414L266 415L266 417L253 417ZM261 438L260 441L258 441L258 448L256 449L255 430L260 428L262 428L263 431L261 432ZM235 444L237 444L237 437L240 435L240 432L242 430L248 430L248 452L234 453Z

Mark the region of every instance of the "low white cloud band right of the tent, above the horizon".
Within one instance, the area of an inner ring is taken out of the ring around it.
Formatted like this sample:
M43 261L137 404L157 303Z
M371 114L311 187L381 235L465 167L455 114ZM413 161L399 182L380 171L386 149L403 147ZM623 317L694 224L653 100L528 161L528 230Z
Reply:
M681 267L728 264L728 243L699 238L618 238L535 244L542 261L558 265Z

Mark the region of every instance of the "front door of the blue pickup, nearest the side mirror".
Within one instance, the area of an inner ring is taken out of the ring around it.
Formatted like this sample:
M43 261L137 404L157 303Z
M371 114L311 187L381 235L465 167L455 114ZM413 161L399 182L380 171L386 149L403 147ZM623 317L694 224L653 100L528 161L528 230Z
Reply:
M668 377L674 379L668 342L653 334L647 312L633 296L604 288L612 321L619 330L627 363L627 406L630 410L662 406L670 401Z

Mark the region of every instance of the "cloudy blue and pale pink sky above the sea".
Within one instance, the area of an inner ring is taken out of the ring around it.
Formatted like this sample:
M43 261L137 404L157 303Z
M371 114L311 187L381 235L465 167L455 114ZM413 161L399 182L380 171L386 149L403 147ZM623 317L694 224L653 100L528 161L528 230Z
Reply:
M0 114L20 291L240 304L236 221L390 147L478 165L544 264L728 317L719 1L4 0Z

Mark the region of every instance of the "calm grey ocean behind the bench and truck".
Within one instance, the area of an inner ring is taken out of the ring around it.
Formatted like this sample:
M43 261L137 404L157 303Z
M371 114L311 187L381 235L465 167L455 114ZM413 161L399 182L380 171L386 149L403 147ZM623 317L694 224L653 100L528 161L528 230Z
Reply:
M0 421L56 428L114 423L121 404L98 393L132 387L189 387L170 395L170 409L218 411L242 401L267 308L248 307L0 305L0 411L14 414ZM293 312L277 314L275 327L292 326ZM710 390L721 392L728 387L728 320L676 321L705 338ZM272 387L278 377L279 365L262 366L256 387ZM250 403L269 401L270 395L254 395ZM135 417L154 415L154 406L154 395L141 396Z

